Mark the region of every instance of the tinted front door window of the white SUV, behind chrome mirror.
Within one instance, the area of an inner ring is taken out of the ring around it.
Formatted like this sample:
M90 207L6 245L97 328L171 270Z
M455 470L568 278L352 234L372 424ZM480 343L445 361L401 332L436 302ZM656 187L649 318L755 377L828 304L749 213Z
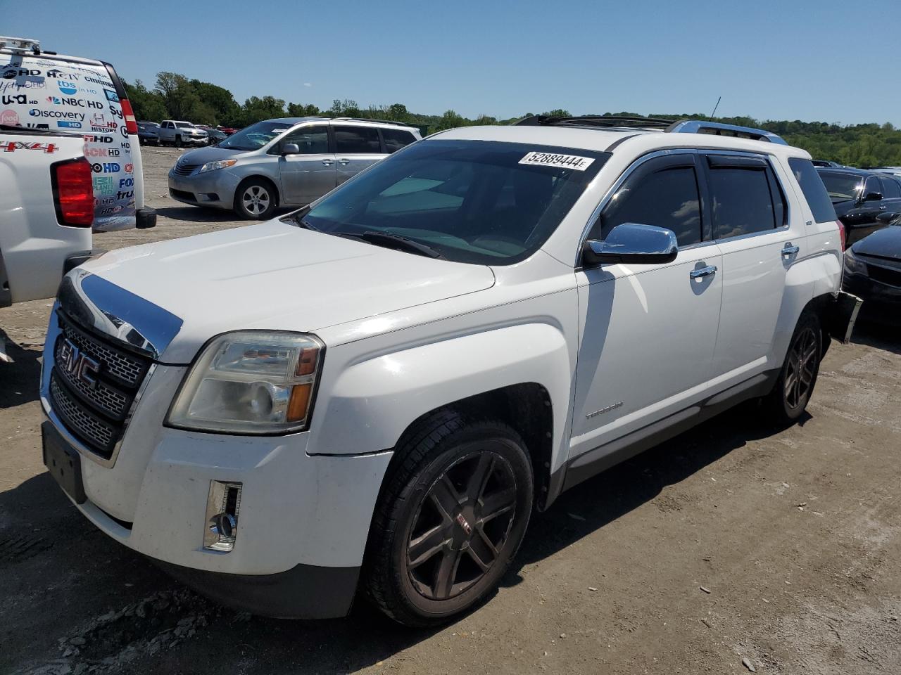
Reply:
M645 162L611 198L592 238L605 238L617 225L634 222L671 229L679 246L698 243L701 209L697 178L694 160L685 157L678 160L681 166L674 166L669 157Z

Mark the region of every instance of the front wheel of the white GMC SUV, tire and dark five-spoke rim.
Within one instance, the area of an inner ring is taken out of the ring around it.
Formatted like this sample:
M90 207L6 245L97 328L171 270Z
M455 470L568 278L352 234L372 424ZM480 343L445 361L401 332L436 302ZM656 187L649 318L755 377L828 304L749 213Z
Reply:
M369 535L369 598L405 626L436 626L496 590L532 513L523 439L495 420L426 419L396 452Z

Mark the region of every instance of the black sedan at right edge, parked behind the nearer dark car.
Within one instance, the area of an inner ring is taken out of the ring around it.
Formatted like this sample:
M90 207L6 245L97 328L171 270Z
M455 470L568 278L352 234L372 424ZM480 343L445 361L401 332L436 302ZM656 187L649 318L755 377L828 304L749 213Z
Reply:
M816 171L845 226L848 246L884 227L876 220L880 214L901 212L901 181L894 175L849 166Z

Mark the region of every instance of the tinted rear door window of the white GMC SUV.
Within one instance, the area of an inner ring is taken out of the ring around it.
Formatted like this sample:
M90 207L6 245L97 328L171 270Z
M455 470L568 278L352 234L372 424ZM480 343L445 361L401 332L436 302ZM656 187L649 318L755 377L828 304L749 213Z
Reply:
M707 157L714 238L741 237L784 224L785 201L762 157Z

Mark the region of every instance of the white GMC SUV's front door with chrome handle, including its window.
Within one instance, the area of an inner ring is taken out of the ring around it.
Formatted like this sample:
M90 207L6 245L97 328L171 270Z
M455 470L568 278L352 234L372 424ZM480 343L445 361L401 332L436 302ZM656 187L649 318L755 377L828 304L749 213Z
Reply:
M571 457L685 410L711 376L723 284L719 248L705 236L696 155L646 157L621 180L589 238L625 222L658 225L676 233L678 256L577 271Z

